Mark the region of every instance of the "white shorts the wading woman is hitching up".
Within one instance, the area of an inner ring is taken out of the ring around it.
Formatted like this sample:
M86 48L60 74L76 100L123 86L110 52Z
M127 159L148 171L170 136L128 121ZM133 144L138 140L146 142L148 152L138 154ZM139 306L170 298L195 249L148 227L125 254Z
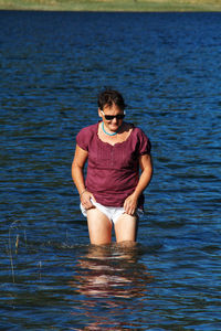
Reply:
M124 207L114 207L114 206L105 206L98 202L95 202L94 200L92 200L92 203L94 206L97 207L97 210L99 210L103 214L105 214L110 222L113 222L114 224L117 222L117 220L119 218L119 216L122 214L125 213ZM80 205L82 214L86 217L86 210L83 207L83 205ZM138 215L144 214L144 212L141 210L137 211Z

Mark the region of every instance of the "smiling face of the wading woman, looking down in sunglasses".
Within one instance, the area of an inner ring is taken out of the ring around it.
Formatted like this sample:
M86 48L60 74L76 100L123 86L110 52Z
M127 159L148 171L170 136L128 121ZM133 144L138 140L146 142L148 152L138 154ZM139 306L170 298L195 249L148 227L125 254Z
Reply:
M113 104L112 106L105 105L103 111L99 110L99 116L102 116L106 129L109 130L110 132L116 132L118 128L122 126L123 119L118 119L114 117L113 119L109 120L105 118L105 115L112 115L112 116L124 115L124 110L120 109L115 104Z

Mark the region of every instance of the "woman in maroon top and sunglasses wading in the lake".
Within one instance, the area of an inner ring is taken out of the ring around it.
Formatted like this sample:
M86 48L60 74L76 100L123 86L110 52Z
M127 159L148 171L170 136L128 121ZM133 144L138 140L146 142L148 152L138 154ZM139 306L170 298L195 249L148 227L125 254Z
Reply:
M112 242L113 224L117 243L136 242L143 192L152 174L150 142L139 128L124 121L125 107L117 90L102 92L102 121L83 128L76 136L72 177L82 213L87 217L91 243L95 245Z

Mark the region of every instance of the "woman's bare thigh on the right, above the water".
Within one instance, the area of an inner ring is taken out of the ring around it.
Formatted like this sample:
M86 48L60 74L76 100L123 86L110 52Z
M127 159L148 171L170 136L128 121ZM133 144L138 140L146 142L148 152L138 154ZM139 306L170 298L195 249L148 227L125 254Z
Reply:
M126 213L122 214L115 223L115 234L117 243L135 243L137 237L137 216L130 216Z

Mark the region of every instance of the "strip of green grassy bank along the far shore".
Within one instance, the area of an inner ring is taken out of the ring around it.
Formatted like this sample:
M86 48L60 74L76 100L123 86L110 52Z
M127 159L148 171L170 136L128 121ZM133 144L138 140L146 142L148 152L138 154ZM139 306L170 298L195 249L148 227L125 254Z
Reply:
M221 0L0 0L4 10L221 11Z

